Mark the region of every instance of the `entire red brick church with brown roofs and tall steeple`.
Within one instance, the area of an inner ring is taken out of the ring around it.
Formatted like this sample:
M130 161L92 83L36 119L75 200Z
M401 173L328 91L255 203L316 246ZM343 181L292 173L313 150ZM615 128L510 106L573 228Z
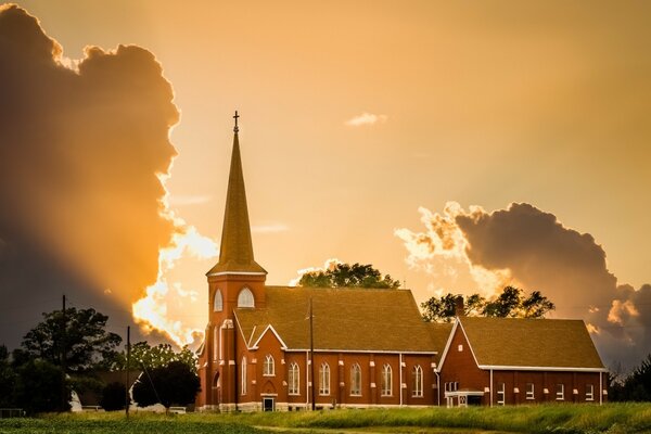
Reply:
M206 273L200 410L596 401L605 369L583 321L426 323L409 290L266 285L254 259L238 115L219 261Z

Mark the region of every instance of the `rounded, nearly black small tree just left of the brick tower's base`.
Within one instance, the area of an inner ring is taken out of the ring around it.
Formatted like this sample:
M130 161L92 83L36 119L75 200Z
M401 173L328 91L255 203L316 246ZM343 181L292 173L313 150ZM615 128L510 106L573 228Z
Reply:
M161 403L187 406L194 401L200 386L199 375L182 361L171 361L165 367L145 370L133 385L133 400L139 407Z

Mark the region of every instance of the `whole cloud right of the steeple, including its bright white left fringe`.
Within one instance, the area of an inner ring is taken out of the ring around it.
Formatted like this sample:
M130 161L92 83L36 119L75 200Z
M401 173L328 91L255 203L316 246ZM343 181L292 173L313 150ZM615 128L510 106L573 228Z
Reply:
M452 266L488 294L507 283L539 290L557 304L556 317L586 321L607 363L636 363L651 346L651 286L618 284L590 234L525 203L493 213L448 203L443 214L421 215L425 231L396 231L412 268L446 277ZM451 282L450 292L474 291Z

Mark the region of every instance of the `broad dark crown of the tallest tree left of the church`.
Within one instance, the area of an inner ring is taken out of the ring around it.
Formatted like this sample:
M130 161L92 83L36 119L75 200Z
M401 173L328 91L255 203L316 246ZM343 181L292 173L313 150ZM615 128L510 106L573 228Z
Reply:
M65 309L65 316L62 310L43 314L43 321L27 332L14 358L39 358L62 366L65 354L66 372L105 368L122 342L119 335L106 332L107 319L92 308L71 307Z

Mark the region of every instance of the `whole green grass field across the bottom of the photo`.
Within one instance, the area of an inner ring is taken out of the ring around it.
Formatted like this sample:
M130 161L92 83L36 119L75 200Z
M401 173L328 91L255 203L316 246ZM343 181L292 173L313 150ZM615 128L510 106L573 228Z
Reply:
M52 414L0 420L0 433L651 433L651 404L275 413Z

